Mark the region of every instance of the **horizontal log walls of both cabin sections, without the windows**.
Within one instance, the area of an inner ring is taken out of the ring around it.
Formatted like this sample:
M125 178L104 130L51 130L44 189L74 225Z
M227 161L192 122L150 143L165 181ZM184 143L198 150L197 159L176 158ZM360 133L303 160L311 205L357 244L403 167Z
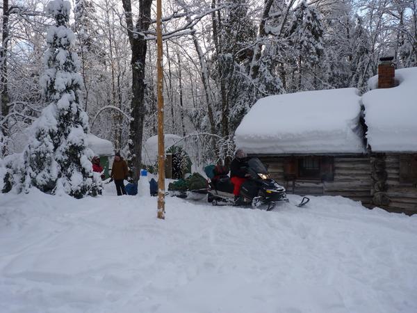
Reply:
M286 181L284 179L284 157L259 157L268 166L273 179L298 195L342 195L361 201L365 207L373 204L373 180L370 177L369 157L334 157L334 181L311 180ZM400 183L400 154L386 154L386 195L388 205L379 205L387 211L417 214L417 186Z

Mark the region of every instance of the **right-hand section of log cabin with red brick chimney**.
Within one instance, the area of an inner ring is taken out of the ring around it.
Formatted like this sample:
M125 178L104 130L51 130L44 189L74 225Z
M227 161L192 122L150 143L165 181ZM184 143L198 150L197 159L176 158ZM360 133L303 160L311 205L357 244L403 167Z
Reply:
M362 96L373 206L417 213L417 67L395 70L381 58Z

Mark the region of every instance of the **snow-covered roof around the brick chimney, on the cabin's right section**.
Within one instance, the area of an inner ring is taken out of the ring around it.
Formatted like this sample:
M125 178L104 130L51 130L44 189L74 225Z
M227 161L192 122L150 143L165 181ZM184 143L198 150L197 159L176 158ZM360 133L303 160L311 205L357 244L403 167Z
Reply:
M362 96L366 137L373 152L417 151L417 67L395 70L394 88L377 88L378 77L368 81Z

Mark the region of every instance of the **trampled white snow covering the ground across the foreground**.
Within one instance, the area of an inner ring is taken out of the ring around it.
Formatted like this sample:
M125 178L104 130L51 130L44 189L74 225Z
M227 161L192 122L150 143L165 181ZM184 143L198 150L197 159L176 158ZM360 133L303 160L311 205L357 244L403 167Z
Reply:
M0 195L0 312L417 312L417 216ZM298 202L294 195L291 202Z

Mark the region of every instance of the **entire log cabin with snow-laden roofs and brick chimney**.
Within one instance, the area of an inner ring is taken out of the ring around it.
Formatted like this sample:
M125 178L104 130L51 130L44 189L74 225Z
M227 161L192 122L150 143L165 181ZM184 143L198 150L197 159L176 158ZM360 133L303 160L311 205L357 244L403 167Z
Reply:
M288 193L417 213L417 67L395 70L382 58L378 70L362 96L343 88L259 99L236 129L236 147L259 157Z

